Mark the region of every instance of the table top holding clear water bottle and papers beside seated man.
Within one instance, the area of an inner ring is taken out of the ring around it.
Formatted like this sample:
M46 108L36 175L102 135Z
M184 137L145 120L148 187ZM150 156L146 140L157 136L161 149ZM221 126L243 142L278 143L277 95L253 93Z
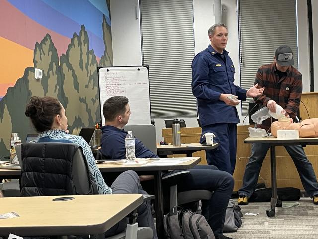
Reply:
M189 169L197 165L200 161L200 157L183 157L183 158L163 158L163 160L189 160L186 162L181 162L178 164L162 164L162 165L151 165L149 163L155 162L159 159L149 159L147 163L136 163L136 164L124 164L124 163L116 163L116 164L103 164L98 163L97 166L101 172L122 172L126 170L134 170L134 171L159 171L159 170L182 170ZM149 165L148 165L149 164Z

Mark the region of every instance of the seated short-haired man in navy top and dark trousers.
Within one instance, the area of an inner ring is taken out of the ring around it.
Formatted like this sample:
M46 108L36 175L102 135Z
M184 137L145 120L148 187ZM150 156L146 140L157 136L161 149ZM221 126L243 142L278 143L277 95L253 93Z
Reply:
M103 106L105 126L101 128L101 152L109 159L124 159L126 154L124 126L128 123L130 106L128 99L114 96ZM157 158L144 144L135 138L136 158ZM223 235L225 211L232 194L234 180L231 174L216 170L212 165L197 165L185 175L178 191L195 189L213 191L210 200L202 200L202 214L207 219L216 239L231 239Z

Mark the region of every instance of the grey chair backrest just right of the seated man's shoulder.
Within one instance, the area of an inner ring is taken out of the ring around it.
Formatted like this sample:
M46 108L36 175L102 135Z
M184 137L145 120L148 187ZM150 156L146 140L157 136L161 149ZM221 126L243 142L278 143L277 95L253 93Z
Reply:
M126 131L132 131L133 135L143 142L146 148L157 154L156 129L152 124L126 125Z

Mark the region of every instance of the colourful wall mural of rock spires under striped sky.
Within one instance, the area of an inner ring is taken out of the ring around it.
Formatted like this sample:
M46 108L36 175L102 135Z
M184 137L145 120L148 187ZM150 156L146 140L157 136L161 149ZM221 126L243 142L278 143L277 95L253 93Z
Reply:
M31 96L57 97L70 132L100 121L97 66L112 66L109 0L0 0L0 158L33 133ZM35 79L34 68L43 71Z

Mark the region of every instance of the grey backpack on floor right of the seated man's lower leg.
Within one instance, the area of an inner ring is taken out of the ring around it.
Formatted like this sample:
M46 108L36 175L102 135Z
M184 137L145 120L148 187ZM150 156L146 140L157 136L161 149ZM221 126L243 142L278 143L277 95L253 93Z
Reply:
M239 205L235 205L235 202L230 199L225 212L223 232L236 232L242 225L241 217L243 217L243 214L240 211Z

